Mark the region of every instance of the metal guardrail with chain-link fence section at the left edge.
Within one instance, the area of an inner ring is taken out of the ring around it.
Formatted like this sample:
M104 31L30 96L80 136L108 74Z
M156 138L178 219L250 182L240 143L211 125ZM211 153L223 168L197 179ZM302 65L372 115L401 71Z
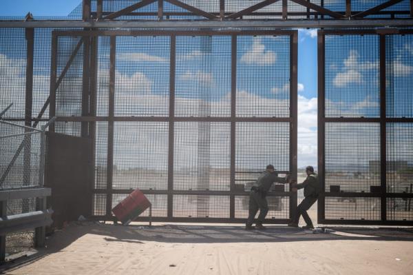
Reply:
M11 106L0 112L0 149L3 155L3 162L0 163L0 263L6 260L8 234L34 229L34 246L44 246L45 226L52 223L53 213L46 210L46 197L51 195L52 190L43 187L43 184L45 130L54 118L41 130L3 121L1 116ZM35 207L28 206L33 199ZM21 200L17 211L10 209L10 203L15 200Z

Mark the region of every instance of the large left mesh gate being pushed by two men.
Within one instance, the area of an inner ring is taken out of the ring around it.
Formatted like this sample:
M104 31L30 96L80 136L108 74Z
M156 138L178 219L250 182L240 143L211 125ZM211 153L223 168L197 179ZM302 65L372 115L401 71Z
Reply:
M96 218L138 188L154 221L244 222L268 163L297 175L295 30L54 31L51 75L51 130L93 140Z

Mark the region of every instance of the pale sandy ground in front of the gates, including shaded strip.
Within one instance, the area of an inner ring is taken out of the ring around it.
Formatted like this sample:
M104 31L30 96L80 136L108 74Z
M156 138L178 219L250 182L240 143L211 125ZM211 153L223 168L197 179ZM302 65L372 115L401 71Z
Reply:
M6 274L412 274L413 230L72 223ZM28 261L29 260L29 261Z

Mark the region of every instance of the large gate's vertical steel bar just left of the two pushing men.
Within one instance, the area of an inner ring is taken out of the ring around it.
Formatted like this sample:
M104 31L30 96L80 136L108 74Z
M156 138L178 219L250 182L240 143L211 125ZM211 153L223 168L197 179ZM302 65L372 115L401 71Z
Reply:
M235 190L235 146L236 146L236 105L237 105L237 36L231 37L231 158L230 190ZM229 197L229 218L235 218L235 195Z

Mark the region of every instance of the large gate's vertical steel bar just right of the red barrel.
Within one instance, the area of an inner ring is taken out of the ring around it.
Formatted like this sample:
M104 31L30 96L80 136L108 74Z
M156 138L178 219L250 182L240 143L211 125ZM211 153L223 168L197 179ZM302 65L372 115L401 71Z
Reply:
M173 151L175 141L175 74L176 74L176 36L171 35L169 63L169 146L168 146L168 210L167 216L173 218Z

